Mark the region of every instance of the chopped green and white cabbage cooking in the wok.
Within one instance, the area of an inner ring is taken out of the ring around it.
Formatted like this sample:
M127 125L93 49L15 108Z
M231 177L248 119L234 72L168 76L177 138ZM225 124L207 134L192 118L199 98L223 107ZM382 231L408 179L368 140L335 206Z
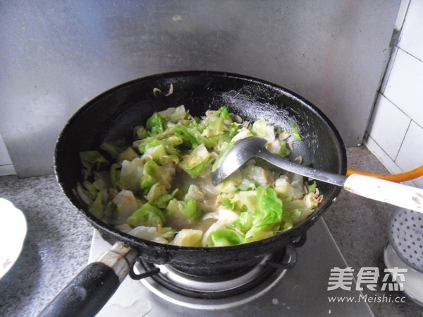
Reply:
M252 135L283 157L301 142L295 125L281 131L226 107L201 118L172 107L135 127L132 144L116 140L80 152L84 177L75 192L95 217L141 239L210 247L266 239L309 217L322 196L314 182L258 159L213 186L216 157Z

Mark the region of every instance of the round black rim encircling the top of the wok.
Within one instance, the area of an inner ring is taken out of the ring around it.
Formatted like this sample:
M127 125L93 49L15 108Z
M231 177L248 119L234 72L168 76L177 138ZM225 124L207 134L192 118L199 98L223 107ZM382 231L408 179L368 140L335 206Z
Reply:
M336 189L334 189L332 198L328 199L324 202L323 205L320 205L317 210L314 210L314 213L307 217L304 221L300 222L300 224L295 225L295 227L290 228L286 230L285 232L281 232L280 234L276 234L273 237L262 239L259 241L250 242L247 244L238 244L235 246L218 246L218 247L204 247L204 246L196 246L196 247L190 247L190 246L174 246L171 244L160 244L154 241L149 241L146 239L140 239L137 237L134 237L130 234L126 234L125 232L121 232L118 229L114 229L111 225L107 224L106 222L102 222L102 220L99 220L97 217L92 215L88 210L79 208L78 205L75 205L74 199L75 198L71 191L69 191L66 187L66 184L63 184L61 181L61 174L58 172L58 165L57 162L59 161L59 145L61 144L63 140L63 135L66 134L66 131L68 129L68 126L71 126L74 121L78 119L79 116L82 116L84 112L90 107L91 104L97 103L99 100L102 100L102 98L106 97L106 95L109 95L111 93L116 92L117 90L121 90L123 88L128 87L129 85L133 85L134 83L138 83L142 80L156 80L159 78L173 78L173 77L189 77L189 76L215 76L215 77L224 77L224 78L236 78L236 79L242 79L247 80L251 83L257 83L259 85L264 85L266 87L276 88L276 90L280 90L283 92L283 95L286 95L287 97L292 98L293 100L296 100L297 102L300 102L301 104L304 104L308 109L312 110L314 114L317 114L320 119L324 121L326 126L329 127L331 130L331 133L333 134L333 138L336 140L336 148L338 149L338 161L340 163L339 169L341 170L340 173L345 174L347 170L347 156L346 156L346 150L345 145L343 143L343 140L341 138L340 133L336 129L336 127L333 125L333 123L329 120L329 118L324 114L324 112L321 111L321 109L317 108L314 104L306 100L304 97L301 97L297 93L282 87L281 85L277 85L276 83L271 83L270 81L255 78L252 76L246 76L243 74L238 73L231 73L226 71L172 71L172 72L165 72L165 73L157 73L152 74L149 76L143 76L140 78L135 78L133 80L128 80L125 83L121 83L119 85L116 85L112 88L109 88L108 90L105 90L104 92L100 93L96 97L92 98L91 100L85 102L79 109L74 112L74 114L71 116L68 121L66 121L66 124L63 126L61 132L59 133L59 136L56 141L56 146L54 149L54 175L56 177L56 181L58 181L59 186L61 187L61 191L65 194L68 201L73 205L74 208L78 210L80 214L82 214L85 219L90 222L90 225L92 225L95 229L99 230L100 234L103 234L106 232L106 234L113 236L116 238L116 241L124 241L125 244L128 244L135 249L140 248L154 248L157 249L163 249L163 250L169 250L169 251L184 251L184 252L195 252L195 253L225 253L229 251L242 251L244 249L251 249L254 246L265 246L269 244L275 244L278 240L283 239L282 237L292 236L293 239L296 237L300 237L304 232L307 232L309 227L314 225L314 222L316 222L329 208L338 197L339 193L341 192L341 187L336 186ZM319 213L317 213L319 212ZM142 256L142 255L141 255Z

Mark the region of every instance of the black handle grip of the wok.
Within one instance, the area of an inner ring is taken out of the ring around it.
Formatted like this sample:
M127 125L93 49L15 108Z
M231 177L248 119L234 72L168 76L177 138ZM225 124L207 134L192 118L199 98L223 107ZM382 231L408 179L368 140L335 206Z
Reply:
M119 284L113 268L104 263L90 263L50 302L39 317L95 316Z

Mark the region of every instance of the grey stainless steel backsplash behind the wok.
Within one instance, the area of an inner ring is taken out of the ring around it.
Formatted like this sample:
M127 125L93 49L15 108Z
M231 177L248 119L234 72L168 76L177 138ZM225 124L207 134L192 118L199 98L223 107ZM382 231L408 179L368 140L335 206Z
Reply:
M362 142L400 0L1 1L0 131L20 177L51 174L56 138L92 97L153 73L269 80Z

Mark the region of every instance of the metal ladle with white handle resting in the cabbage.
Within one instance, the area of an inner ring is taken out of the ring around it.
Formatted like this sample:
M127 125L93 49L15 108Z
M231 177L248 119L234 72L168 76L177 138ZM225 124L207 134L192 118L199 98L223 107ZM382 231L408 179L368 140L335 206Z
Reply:
M226 148L219 155L212 169L212 183L214 186L233 174L252 157L260 157L288 172L341 186L346 191L355 193L358 196L423 213L423 189L360 174L352 174L349 177L345 177L298 165L269 152L264 146L266 142L267 140L264 138L250 136L238 140L231 148Z

